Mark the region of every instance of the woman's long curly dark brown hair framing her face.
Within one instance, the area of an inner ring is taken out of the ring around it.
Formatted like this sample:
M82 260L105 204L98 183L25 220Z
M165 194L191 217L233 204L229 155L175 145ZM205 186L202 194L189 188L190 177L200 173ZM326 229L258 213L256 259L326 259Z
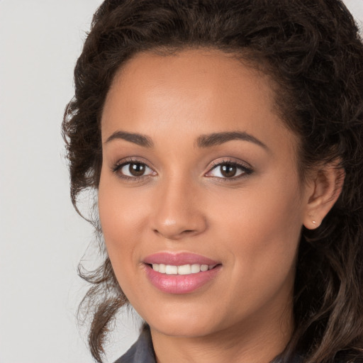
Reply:
M279 362L363 362L363 45L340 0L106 0L94 14L74 69L75 96L62 132L71 197L97 189L100 119L114 75L142 51L184 48L234 52L277 84L276 103L301 140L301 177L318 162L340 160L342 194L315 230L303 228L294 289L295 330ZM78 211L78 209L77 209ZM93 221L101 232L97 218ZM128 303L104 252L83 304L97 362L108 327Z

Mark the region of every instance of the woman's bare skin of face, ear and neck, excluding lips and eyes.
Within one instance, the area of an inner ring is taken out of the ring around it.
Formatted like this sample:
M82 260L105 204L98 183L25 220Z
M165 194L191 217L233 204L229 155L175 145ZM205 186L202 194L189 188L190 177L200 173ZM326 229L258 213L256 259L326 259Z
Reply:
M99 216L118 282L150 325L157 362L267 363L289 341L301 228L316 228L328 213L337 174L325 167L301 183L298 140L277 116L272 88L222 52L184 50L136 55L108 91ZM145 135L152 146L119 131ZM201 135L225 132L264 146L197 145ZM115 169L127 162L145 164L145 174L124 179L129 165ZM252 172L238 167L237 177L223 177L216 164L228 162ZM194 252L222 268L196 291L167 294L143 264L164 251Z

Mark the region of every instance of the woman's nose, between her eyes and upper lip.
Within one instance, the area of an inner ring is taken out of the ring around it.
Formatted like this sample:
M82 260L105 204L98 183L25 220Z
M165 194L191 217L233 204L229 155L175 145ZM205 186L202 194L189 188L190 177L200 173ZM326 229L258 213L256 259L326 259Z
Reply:
M181 240L203 233L207 228L201 193L191 182L169 180L155 193L151 226L168 240Z

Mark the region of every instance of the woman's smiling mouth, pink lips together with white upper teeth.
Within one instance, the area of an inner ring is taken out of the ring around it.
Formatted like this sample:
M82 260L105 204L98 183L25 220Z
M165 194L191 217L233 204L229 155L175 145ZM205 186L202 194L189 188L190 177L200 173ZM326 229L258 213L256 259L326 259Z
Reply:
M160 252L144 261L146 276L153 286L169 294L187 294L211 281L222 265L192 253Z

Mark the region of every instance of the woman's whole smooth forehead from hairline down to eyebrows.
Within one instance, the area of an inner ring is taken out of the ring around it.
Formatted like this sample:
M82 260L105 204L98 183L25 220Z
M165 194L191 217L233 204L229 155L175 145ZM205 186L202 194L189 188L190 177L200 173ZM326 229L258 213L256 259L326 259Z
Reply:
M218 50L138 53L108 91L103 139L122 128L155 138L240 130L262 142L272 137L280 143L286 135L291 141L275 107L273 86L267 74Z

